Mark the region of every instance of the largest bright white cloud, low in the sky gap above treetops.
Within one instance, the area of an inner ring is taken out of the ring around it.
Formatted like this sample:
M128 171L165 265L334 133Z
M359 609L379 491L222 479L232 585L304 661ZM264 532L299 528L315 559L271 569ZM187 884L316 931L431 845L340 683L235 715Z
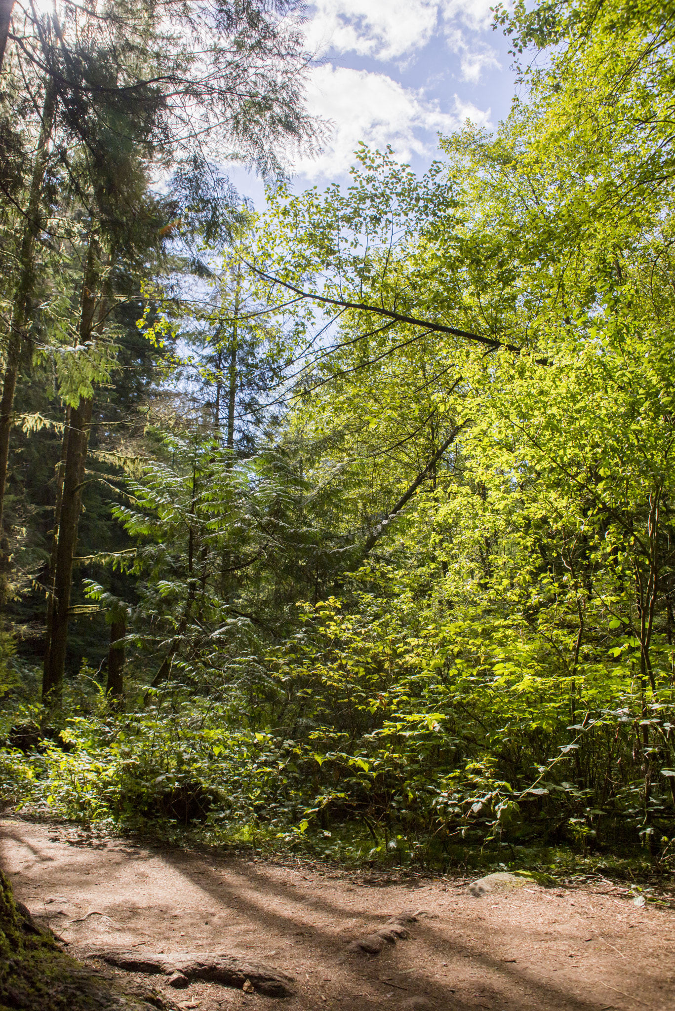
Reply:
M483 111L454 95L451 112L429 101L423 91L404 88L386 74L325 65L315 69L310 84L312 112L329 119L332 136L314 161L303 160L296 169L310 180L337 179L353 164L360 141L383 150L390 144L401 161L435 151L437 131L450 132L467 118L490 123L490 109Z

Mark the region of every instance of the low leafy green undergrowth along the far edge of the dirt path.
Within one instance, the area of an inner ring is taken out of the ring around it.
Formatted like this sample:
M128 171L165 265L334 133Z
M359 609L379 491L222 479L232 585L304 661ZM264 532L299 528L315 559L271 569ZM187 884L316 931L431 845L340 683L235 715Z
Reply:
M474 767L474 790L450 818L439 817L433 774L426 808L409 796L407 806L383 809L369 790L372 753L345 755L339 789L328 791L320 773L335 767L334 756L269 728L232 729L228 708L214 699L188 698L174 685L117 712L94 681L78 683L58 715L17 693L5 698L0 793L17 812L171 845L401 874L529 868L560 880L604 874L639 882L675 870L672 838L661 834L655 845L653 834L621 834L610 817L605 830L602 812L570 810L553 792L513 800L503 817L494 769L491 779L490 769L481 776ZM588 831L562 840L551 831L579 820Z

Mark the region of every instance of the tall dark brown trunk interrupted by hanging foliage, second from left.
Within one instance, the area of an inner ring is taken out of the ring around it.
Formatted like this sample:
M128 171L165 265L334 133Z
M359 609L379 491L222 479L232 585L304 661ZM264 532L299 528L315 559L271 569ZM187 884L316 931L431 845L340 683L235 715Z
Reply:
M91 338L97 306L95 295L98 284L97 245L95 238L92 236L82 282L79 335L81 344L85 344ZM101 311L102 315L103 312ZM45 673L43 677L43 701L49 701L51 706L58 706L60 704L63 687L68 636L68 612L73 582L73 559L77 544L77 526L82 508L82 488L87 462L92 406L92 397L81 397L77 407L71 407L70 413L61 516L59 518L57 564L54 576L52 628L48 633L50 636L50 652L45 660Z

